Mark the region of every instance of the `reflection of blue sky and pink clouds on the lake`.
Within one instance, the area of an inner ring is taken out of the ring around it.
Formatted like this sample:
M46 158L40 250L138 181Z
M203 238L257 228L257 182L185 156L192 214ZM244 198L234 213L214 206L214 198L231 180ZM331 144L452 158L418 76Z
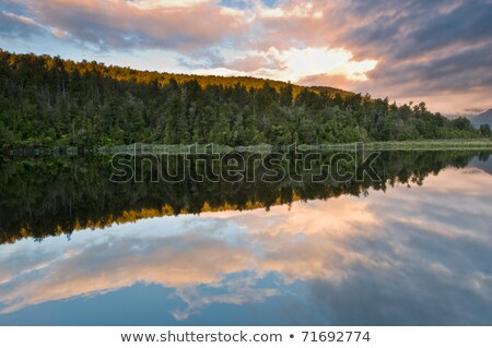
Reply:
M492 177L0 247L1 324L491 325Z

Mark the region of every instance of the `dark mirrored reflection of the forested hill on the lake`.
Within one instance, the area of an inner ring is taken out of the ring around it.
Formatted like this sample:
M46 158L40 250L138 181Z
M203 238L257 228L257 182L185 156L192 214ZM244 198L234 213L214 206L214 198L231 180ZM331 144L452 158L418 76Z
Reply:
M152 182L159 168L149 168L148 158L138 157L136 171L143 173L139 177L141 182L115 183L109 181L113 168L108 158L47 158L40 163L0 158L0 244L149 217L269 208L300 200L366 195L368 189L386 191L396 183L420 185L427 176L447 166L462 168L473 157L478 164L489 157L487 152L386 152L374 163L376 177L382 180L363 176L362 181L311 181L313 172L336 170L330 161L333 154L321 155L309 164L313 170L295 170L303 178L300 182L289 177L278 182L196 182L188 177L178 183ZM201 158L197 159L195 171L202 170L201 163ZM184 166L173 160L162 165ZM364 167L345 169L360 177ZM255 166L248 166L248 170L256 172L257 178L268 171Z

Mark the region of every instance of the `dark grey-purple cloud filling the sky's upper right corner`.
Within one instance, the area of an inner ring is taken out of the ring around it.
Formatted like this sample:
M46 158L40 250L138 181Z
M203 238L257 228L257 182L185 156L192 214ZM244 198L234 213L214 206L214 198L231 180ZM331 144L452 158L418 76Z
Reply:
M492 88L490 1L352 1L344 11L372 19L341 39L383 62L375 83L400 95Z

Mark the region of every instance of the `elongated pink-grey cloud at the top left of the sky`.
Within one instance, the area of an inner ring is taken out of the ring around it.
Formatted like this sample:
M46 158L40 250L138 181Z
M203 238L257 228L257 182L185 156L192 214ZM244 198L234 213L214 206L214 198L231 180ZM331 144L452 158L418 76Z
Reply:
M190 51L247 28L237 13L210 1L50 0L28 5L36 21L102 50Z

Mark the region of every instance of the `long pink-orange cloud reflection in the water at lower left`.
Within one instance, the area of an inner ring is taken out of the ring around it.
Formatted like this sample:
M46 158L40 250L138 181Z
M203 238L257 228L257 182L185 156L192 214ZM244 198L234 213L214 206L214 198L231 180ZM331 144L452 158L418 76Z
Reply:
M3 275L0 302L8 305L1 313L55 299L106 293L139 281L176 288L216 284L224 275L243 271L253 257L247 250L192 232L143 243L127 237L114 244L103 238L79 245L78 252L65 252L58 260L50 256L49 262L36 254L13 257L15 263L5 266L33 261L16 275L19 266ZM186 248L179 247L183 243Z

